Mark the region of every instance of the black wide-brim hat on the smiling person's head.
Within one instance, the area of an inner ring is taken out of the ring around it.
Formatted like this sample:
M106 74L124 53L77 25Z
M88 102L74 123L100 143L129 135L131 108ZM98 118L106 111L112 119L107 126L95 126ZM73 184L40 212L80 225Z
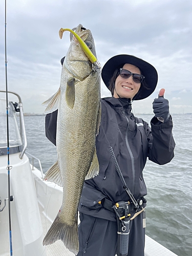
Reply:
M105 86L109 89L110 80L117 68L122 68L124 64L129 63L138 67L141 74L145 77L144 83L146 87L143 87L143 82L139 92L134 96L134 100L145 99L150 96L157 86L158 74L156 69L148 62L137 58L132 55L120 54L109 59L102 68L101 77Z

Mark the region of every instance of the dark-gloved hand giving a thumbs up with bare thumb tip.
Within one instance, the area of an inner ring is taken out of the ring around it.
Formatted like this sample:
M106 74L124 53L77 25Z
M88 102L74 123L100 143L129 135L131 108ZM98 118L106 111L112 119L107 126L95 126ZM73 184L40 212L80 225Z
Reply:
M164 92L165 89L161 89L158 98L155 98L153 102L153 112L155 117L163 123L168 121L170 117L168 100L164 99Z

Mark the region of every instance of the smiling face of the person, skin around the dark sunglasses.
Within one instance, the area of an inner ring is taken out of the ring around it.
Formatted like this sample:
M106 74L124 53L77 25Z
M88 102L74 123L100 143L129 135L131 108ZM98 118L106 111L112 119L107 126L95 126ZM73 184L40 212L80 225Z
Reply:
M123 66L123 69L129 70L134 74L141 74L139 68L128 63ZM141 84L134 82L132 75L126 79L118 75L115 80L115 90L113 97L133 99L133 97L138 93L140 87Z

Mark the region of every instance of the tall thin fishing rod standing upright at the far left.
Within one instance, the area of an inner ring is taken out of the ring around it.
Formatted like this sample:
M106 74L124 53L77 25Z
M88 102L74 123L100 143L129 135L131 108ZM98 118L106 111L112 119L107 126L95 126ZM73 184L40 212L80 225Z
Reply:
M8 173L8 208L9 208L9 241L10 255L13 255L12 250L12 234L11 234L11 195L10 195L10 166L9 159L9 102L8 102L8 79L7 79L7 1L5 0L5 79L6 79L6 117L7 117L7 173Z

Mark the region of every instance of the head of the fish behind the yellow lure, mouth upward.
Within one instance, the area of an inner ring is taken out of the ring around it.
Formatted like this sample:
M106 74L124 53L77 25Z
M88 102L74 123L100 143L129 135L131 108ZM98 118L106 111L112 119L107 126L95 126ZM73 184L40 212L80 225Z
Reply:
M91 31L82 28L82 25L79 24L75 32L96 56L95 44ZM63 62L63 68L66 68L76 80L80 81L88 77L93 71L93 64L82 50L82 47L75 36L72 36L71 45Z

